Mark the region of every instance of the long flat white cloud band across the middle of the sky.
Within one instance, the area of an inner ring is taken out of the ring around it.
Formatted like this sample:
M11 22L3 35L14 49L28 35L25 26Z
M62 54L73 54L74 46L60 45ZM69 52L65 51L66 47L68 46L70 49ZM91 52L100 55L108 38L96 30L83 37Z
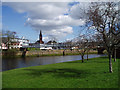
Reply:
M81 19L73 19L70 16L60 15L54 19L30 19L28 18L28 25L34 27L35 29L45 29L50 30L51 28L57 29L64 26L79 26L84 25L85 22Z

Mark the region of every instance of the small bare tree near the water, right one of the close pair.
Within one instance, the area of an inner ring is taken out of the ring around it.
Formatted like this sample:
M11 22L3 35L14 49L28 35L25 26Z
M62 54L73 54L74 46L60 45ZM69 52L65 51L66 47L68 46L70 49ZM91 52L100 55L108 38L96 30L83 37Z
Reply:
M89 51L94 47L95 41L93 37L93 33L89 29L89 25L87 23L84 26L80 26L80 33L82 35L79 35L79 46L82 48L81 55L87 54L87 61L88 61L88 55Z

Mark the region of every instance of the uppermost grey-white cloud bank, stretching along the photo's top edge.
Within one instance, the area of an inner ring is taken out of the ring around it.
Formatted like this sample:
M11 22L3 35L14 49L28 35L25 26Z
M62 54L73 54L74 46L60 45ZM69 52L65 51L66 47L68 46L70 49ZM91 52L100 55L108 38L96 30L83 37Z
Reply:
M4 5L12 7L19 13L27 12L28 17L35 19L52 19L66 13L68 9L67 3L13 2Z

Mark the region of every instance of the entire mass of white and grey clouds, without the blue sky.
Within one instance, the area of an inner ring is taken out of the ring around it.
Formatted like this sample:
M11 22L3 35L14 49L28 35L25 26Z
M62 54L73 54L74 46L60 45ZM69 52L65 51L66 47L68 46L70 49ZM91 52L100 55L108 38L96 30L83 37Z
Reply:
M48 40L49 36L63 39L73 33L72 26L84 25L84 20L80 19L80 4L69 6L67 3L4 3L15 9L18 13L27 13L26 25L30 25L35 30L42 30ZM71 9L70 9L71 8ZM64 15L68 13L68 15ZM69 15L70 14L70 15Z

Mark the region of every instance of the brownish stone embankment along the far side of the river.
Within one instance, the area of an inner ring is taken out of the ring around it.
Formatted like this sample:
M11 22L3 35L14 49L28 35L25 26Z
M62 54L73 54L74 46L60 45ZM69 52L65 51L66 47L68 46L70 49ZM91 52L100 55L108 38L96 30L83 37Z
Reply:
M17 58L17 57L40 57L40 56L63 56L64 50L33 50L26 51L25 56L23 56L23 51L12 51L12 52L3 52L3 58ZM85 53L86 54L86 53ZM88 54L97 54L96 50L91 50ZM64 55L80 55L77 50L65 50Z

